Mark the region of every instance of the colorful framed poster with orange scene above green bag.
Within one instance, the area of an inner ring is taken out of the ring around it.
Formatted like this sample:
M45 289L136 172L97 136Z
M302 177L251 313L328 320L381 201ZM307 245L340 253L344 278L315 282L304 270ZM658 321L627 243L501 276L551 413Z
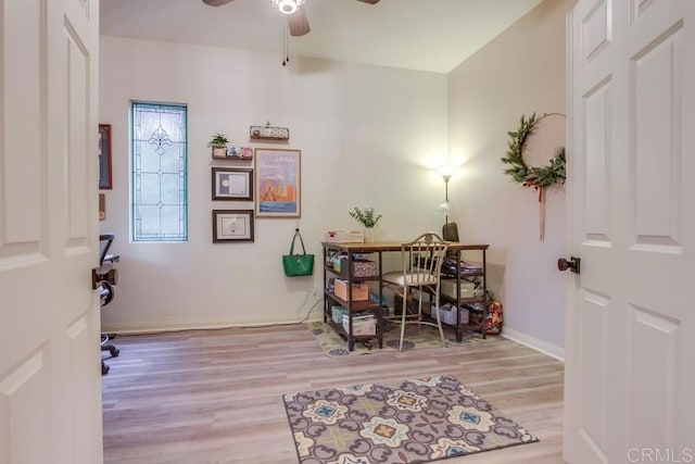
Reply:
M256 217L300 217L302 151L255 149Z

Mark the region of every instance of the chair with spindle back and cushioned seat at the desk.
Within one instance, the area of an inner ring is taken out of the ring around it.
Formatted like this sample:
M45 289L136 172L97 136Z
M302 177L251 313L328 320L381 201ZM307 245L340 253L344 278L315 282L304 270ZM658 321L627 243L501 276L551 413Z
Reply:
M387 273L381 277L382 283L387 287L393 288L396 293L402 296L401 324L401 341L399 351L403 351L403 338L405 335L405 325L416 323L419 325L431 325L439 328L442 347L446 347L444 339L444 330L440 318L440 276L442 259L446 255L448 243L434 233L426 233L413 241L401 244L401 259L403 262L403 271ZM410 291L418 290L418 311L417 314L408 314L407 300ZM422 300L425 293L434 297L435 321L437 323L422 319ZM414 319L414 321L408 321Z

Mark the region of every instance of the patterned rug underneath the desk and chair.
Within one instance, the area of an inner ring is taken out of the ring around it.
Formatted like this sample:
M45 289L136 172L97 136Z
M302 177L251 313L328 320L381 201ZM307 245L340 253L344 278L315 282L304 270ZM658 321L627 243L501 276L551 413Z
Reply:
M338 335L328 324L321 321L315 321L306 323L307 328L314 335L318 344L329 356L346 356L354 354L370 354L379 353L382 351L393 352L399 351L399 343L401 340L401 328L397 324L393 324L390 330L387 330L383 335L383 349L379 350L379 341L375 338L371 343L365 344L363 342L355 343L354 351L348 351L348 343L344 339ZM458 344L456 341L456 334L451 327L444 327L444 338L446 339L446 346L451 347ZM483 340L480 335L466 334L462 342L485 342L494 341L495 337L488 337ZM437 327L422 326L418 330L416 326L408 326L405 329L405 339L403 340L403 351L409 351L422 348L441 348L442 343L439 339L439 330Z

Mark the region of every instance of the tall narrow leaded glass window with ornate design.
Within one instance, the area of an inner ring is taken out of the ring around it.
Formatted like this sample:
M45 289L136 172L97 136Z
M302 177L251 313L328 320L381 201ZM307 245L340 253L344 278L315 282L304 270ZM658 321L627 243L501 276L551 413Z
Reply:
M132 241L188 241L187 108L131 109Z

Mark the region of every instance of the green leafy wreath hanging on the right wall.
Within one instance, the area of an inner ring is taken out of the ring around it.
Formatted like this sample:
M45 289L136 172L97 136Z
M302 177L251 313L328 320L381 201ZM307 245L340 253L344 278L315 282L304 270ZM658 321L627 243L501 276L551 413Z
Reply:
M535 125L544 117L551 115L561 115L559 113L543 114L535 117L533 113L528 120L522 114L519 128L516 131L507 133L509 140L507 142L507 155L502 158L504 164L509 167L504 173L511 177L516 183L523 187L533 187L534 189L545 189L556 183L564 184L567 177L567 164L565 158L565 147L560 147L555 151L555 156L551 159L551 163L543 167L529 166L523 161L523 150L529 137L533 134Z

